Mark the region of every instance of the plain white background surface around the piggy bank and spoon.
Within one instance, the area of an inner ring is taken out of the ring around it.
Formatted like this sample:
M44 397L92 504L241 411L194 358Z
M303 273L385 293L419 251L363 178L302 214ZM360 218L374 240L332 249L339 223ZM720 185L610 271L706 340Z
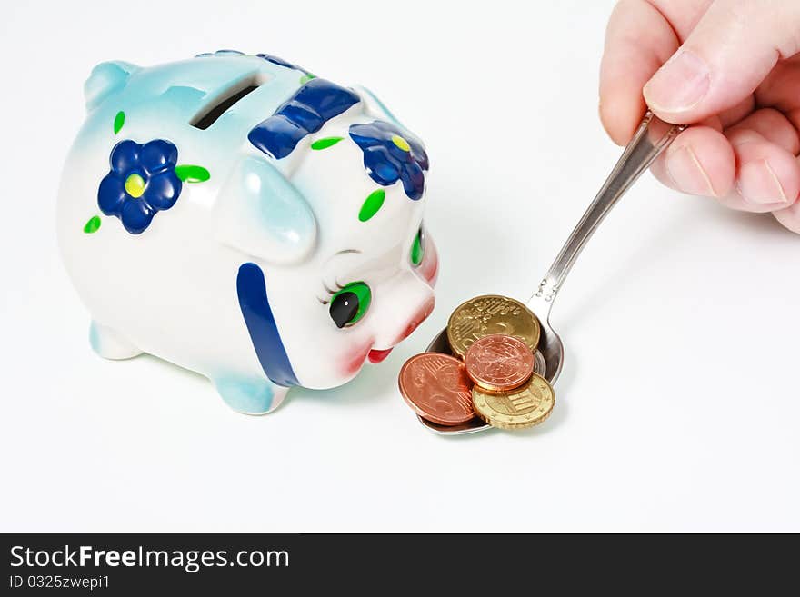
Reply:
M534 289L619 150L613 3L16 2L0 14L0 530L800 531L800 236L645 176L555 307L555 413L442 438L396 389L456 304ZM434 315L273 414L150 356L107 362L55 246L96 63L233 47L363 83L426 142Z

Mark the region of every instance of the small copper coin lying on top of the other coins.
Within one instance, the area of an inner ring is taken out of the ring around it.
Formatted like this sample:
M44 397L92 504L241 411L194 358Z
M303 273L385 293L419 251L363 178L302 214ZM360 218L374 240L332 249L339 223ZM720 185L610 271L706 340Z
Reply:
M521 340L493 333L475 340L465 356L466 372L490 392L508 392L534 373L534 353Z

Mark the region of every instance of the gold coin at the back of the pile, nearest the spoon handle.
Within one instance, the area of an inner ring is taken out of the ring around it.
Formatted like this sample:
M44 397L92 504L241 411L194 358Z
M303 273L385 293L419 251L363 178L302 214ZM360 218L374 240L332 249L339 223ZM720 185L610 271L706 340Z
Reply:
M475 340L493 333L514 336L535 353L539 345L539 320L523 303L487 294L458 305L447 322L450 348L462 359Z

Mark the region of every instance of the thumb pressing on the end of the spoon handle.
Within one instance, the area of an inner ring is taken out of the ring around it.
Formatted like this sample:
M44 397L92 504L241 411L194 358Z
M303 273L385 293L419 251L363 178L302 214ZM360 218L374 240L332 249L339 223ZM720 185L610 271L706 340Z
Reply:
M645 101L667 122L693 124L745 100L798 51L800 2L716 0L645 85Z

